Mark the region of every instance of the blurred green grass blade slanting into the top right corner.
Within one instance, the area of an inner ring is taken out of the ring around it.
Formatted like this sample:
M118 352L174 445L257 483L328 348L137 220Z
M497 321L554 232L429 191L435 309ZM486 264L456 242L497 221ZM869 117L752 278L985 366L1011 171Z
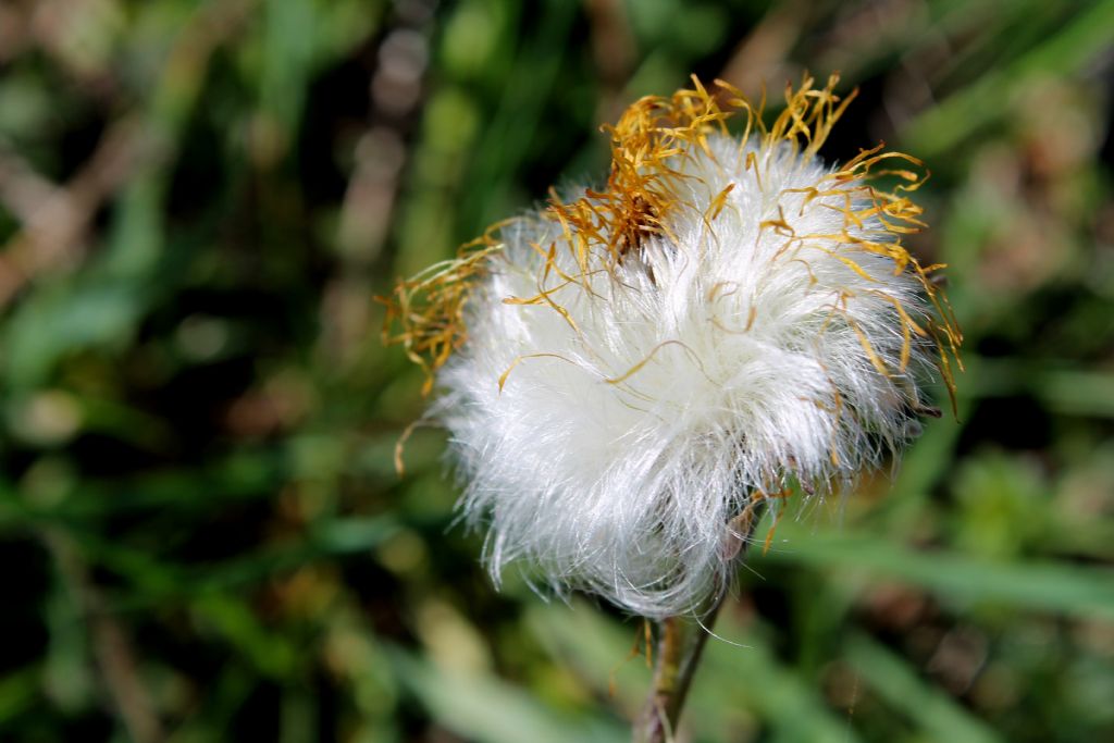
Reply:
M1074 75L1114 43L1114 1L1084 7L1067 26L1012 65L990 70L926 109L901 133L920 157L936 157L1003 115L1016 92L1040 76Z

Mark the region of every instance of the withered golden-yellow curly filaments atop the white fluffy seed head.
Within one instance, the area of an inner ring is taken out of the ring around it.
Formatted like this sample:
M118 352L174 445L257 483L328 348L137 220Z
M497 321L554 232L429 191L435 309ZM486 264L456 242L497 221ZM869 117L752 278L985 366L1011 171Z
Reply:
M785 107L769 126L763 118L764 90L759 104L754 105L741 91L722 80L716 80L709 90L694 77L692 89L678 90L670 97L652 96L635 101L614 126L603 127L610 137L612 150L606 186L600 190L585 190L573 201L563 201L556 192L550 192L544 217L553 221L559 235L545 248L534 246L543 256L537 294L506 297L505 302L549 307L578 332L569 312L555 299L559 290L570 285L589 290L590 276L600 271L614 272L628 256L639 256L647 238L661 237L675 242L670 225L671 215L677 209L696 208L711 227L711 223L727 206L734 183L719 190L710 203L703 205L685 203L677 196L678 193L684 193L683 188L678 188L682 182L693 177L682 172L684 158L692 157L691 153L700 151L715 162L709 137L727 134L727 120L740 115L745 119L739 145L739 156L744 159L742 169L754 174L761 189L764 155L788 145L800 156L812 157L824 144L833 125L857 94L852 91L842 97L837 95L838 81L838 76L833 75L823 87L817 87L812 77L804 76L798 88L786 86ZM750 146L752 134L755 145L753 148ZM890 167L895 160L911 167ZM879 164L886 164L886 167L876 169ZM905 371L910 356L911 336L930 338L938 348L938 368L955 405L951 359L962 369L958 355L962 336L944 292L930 278L932 272L942 266L936 264L921 267L901 244L902 235L925 227L920 218L921 207L908 195L925 183L928 174L913 168L924 168L924 164L910 155L886 150L885 144L862 149L817 184L783 192L802 194L802 211L818 198L841 199L842 206L824 204L827 208L842 214L841 231L830 234L795 234L785 215L780 212L778 218L761 221L760 231L772 229L789 238L786 251L791 245L821 250L871 281L873 277L846 254L848 251L886 256L893 262L895 274L910 271L935 313L924 321L926 326L922 327L910 317L898 300L882 295L893 304L901 322L900 371ZM896 178L901 183L892 192L888 192L871 185L871 182L879 178ZM407 355L422 366L427 373L426 392L431 390L437 370L465 342L468 330L465 307L469 295L504 250L496 235L512 222L514 219L492 225L481 237L461 246L456 258L400 282L393 294L382 300L388 307L384 341L401 344ZM867 224L874 225L872 232L864 232ZM823 245L817 245L818 242ZM561 251L568 252L571 263L561 261ZM791 260L801 261L799 257ZM575 266L575 270L570 270L570 266ZM547 286L547 280L553 274L559 282ZM653 281L653 276L651 278ZM715 294L716 290L713 289L710 301L714 300ZM525 306L524 311L527 311ZM838 306L833 311L840 312ZM753 309L747 329L752 322ZM852 327L871 364L879 373L889 375L890 371L862 331L853 325ZM511 369L522 359L534 355L545 354L520 356ZM607 381L614 383L626 380L645 365L646 361ZM500 389L511 369L498 380Z

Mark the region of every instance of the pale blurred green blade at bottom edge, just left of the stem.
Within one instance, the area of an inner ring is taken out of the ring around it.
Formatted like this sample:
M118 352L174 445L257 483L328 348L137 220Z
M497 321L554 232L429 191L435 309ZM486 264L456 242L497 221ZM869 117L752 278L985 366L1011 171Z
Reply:
M439 668L398 647L384 653L402 683L430 714L476 743L619 743L629 733L608 720L561 715L489 675Z

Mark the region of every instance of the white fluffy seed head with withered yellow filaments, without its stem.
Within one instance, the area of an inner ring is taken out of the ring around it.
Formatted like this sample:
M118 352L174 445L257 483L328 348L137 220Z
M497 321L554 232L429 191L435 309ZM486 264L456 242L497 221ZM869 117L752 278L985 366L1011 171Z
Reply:
M830 120L833 84L813 91ZM737 517L896 452L940 339L958 340L898 239L916 207L866 185L877 150L827 168L818 137L801 147L779 119L734 138L709 124L720 110L698 87L639 101L606 189L400 290L410 314L418 290L442 301L403 342L439 366L431 417L497 580L524 561L558 593L696 610L730 575ZM466 340L420 348L453 319Z

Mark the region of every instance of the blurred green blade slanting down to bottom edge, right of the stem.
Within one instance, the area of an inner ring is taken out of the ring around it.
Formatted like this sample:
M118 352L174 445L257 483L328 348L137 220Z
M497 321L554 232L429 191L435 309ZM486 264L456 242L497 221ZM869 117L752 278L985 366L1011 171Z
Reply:
M871 690L925 730L925 740L948 743L1001 743L986 723L917 675L908 663L862 634L848 639L847 661Z

